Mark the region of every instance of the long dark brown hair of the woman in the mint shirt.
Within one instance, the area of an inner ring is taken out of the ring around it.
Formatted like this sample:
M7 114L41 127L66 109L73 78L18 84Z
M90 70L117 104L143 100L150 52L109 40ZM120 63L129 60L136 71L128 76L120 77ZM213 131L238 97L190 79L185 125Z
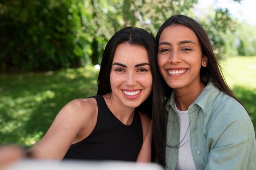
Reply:
M213 52L213 48L211 46L211 41L209 40L209 37L206 33L206 31L204 30L204 28L195 20L193 20L190 17L187 17L185 15L174 15L170 18L168 18L164 24L162 24L162 26L160 26L159 30L157 31L157 35L156 35L156 42L157 44L159 44L159 38L160 35L162 33L162 31L164 30L164 28L171 26L171 25L182 25L182 26L186 26L187 28L191 29L195 35L197 36L200 45L201 45L201 51L202 51L202 55L206 56L208 58L208 62L207 62L207 67L201 67L200 70L200 80L202 81L202 83L206 86L209 82L212 82L218 89L220 89L220 91L225 92L226 94L228 94L229 96L233 97L234 99L236 99L240 104L241 102L236 98L236 96L234 96L234 94L231 92L231 90L229 89L222 71L220 69L220 65L218 63L217 57ZM163 78L162 78L163 80ZM173 89L171 87L169 87L165 82L164 82L164 96L170 97L171 93L173 91ZM165 113L161 113L161 114L165 114ZM164 117L164 115L161 115L159 117ZM162 124L162 120L160 122L156 122L155 124ZM158 127L157 125L155 125L155 127ZM161 126L159 126L161 127ZM164 131L166 133L166 129L153 129L153 131L155 131L154 133L157 133L159 131ZM165 140L165 138L163 139L159 139L160 142L162 142L163 140ZM158 143L160 143L158 142ZM161 146L162 148L162 146ZM165 159L164 157L161 157L162 159ZM163 162L165 160L160 160L160 162Z

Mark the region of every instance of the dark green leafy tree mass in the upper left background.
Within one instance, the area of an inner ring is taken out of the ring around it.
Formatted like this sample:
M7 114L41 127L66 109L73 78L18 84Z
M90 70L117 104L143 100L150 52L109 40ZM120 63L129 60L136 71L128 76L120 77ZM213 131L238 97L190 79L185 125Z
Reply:
M90 48L86 14L79 0L2 0L0 71L81 66Z

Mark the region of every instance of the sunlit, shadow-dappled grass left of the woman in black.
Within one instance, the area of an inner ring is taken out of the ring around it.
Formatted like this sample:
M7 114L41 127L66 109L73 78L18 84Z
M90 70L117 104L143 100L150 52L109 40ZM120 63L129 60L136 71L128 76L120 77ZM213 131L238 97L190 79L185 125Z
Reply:
M97 74L87 66L0 75L0 144L35 144L67 102L96 94Z

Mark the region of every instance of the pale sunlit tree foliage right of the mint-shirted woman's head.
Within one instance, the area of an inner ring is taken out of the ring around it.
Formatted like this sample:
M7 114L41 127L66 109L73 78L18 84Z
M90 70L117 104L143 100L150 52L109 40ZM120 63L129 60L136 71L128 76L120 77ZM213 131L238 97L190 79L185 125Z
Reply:
M240 3L242 0L234 0ZM218 0L216 1L218 2ZM231 17L228 9L215 9L198 18L207 31L219 59L232 56L256 55L255 26Z

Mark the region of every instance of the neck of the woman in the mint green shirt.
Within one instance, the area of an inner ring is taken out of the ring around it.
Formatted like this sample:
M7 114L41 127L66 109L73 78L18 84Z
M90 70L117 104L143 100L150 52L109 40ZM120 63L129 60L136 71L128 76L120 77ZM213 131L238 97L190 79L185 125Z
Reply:
M194 88L174 89L177 108L182 111L188 110L189 106L198 98L204 87L204 84L200 82L200 85Z

